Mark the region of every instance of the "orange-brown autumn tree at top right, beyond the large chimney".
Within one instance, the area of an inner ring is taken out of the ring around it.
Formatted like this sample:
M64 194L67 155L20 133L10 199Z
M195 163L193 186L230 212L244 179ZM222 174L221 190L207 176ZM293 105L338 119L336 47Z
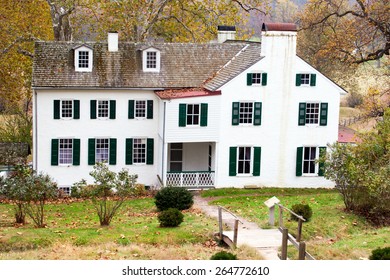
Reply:
M310 0L300 15L300 25L302 30L323 34L323 57L359 64L389 55L386 0Z

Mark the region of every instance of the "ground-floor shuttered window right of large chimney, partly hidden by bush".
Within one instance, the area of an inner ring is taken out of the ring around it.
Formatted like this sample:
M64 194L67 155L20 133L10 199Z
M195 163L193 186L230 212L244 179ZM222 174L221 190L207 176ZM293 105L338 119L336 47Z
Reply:
M297 148L296 176L324 176L324 165L318 159L326 153L326 147L306 146Z

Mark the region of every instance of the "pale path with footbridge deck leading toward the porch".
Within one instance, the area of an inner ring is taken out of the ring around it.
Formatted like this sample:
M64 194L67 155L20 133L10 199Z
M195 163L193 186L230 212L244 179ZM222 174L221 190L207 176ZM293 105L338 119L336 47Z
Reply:
M218 207L209 205L207 200L198 194L194 195L194 206L200 208L210 217L218 219ZM235 218L226 211L223 211L222 216L224 223L233 229ZM241 217L239 219L243 223L239 223L238 226L237 246L246 244L256 248L266 260L279 260L278 248L282 245L282 234L279 230L261 229L255 223L248 222ZM224 234L233 240L233 231L224 231Z

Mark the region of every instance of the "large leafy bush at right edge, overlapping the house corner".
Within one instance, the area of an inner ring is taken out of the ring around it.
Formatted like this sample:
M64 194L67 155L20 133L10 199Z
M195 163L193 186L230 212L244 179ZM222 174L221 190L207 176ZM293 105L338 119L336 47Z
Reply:
M333 144L325 177L336 183L345 206L375 224L390 224L390 109L356 146Z

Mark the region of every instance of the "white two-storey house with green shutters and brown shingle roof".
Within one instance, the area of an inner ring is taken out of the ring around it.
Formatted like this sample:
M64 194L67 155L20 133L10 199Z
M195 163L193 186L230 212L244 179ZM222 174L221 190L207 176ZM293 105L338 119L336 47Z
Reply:
M222 27L220 42L234 38ZM183 187L329 187L345 91L296 55L293 24L260 43L37 42L34 168L68 188L97 161Z

